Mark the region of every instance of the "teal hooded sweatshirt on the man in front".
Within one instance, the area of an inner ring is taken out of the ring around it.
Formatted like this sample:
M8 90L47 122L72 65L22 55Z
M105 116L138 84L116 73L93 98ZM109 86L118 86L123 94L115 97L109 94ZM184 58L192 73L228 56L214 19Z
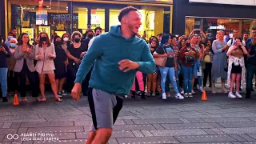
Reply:
M123 59L138 62L139 69L126 73L119 70L118 62ZM74 82L82 83L93 64L90 87L117 95L130 92L137 71L153 74L155 68L154 58L145 40L137 36L124 38L121 26L111 26L110 32L94 39L82 59Z

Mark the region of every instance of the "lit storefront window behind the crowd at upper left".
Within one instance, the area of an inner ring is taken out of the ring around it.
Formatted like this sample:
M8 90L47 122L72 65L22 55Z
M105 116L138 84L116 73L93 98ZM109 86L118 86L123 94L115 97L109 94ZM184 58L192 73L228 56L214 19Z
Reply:
M8 28L16 27L18 35L27 33L31 42L40 32L51 37L55 32L62 34L71 32L71 21L77 23L77 16L71 18L67 2L44 1L39 5L36 1L8 1Z

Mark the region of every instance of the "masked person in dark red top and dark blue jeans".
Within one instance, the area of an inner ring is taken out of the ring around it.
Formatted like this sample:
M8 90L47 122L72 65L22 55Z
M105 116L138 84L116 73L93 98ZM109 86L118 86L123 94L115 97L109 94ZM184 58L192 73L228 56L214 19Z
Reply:
M183 87L184 87L184 96L185 97L193 97L192 96L192 76L193 76L193 62L189 62L194 58L199 58L198 52L190 46L190 39L185 39L186 46L182 47L182 49L178 53L178 61L182 66L182 74L183 74ZM192 56L190 58L187 58ZM192 58L192 59L191 59Z

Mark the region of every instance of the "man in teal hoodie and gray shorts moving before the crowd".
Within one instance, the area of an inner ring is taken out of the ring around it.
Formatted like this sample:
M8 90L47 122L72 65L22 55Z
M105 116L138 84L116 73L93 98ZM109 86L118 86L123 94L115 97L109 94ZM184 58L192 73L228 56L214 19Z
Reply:
M94 64L90 78L88 101L93 124L87 144L106 144L112 126L122 109L123 97L129 93L137 71L153 74L154 58L146 42L138 38L141 17L138 10L128 6L118 15L121 26L94 39L77 72L72 97L78 100L81 82Z

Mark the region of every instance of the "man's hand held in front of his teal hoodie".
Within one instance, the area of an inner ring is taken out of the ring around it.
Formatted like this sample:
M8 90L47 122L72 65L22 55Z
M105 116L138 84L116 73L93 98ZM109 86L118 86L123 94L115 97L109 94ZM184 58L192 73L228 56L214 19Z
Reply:
M139 68L138 62L130 61L129 59L124 59L120 62L118 62L119 70L122 70L123 72L127 72L129 70L136 70Z

